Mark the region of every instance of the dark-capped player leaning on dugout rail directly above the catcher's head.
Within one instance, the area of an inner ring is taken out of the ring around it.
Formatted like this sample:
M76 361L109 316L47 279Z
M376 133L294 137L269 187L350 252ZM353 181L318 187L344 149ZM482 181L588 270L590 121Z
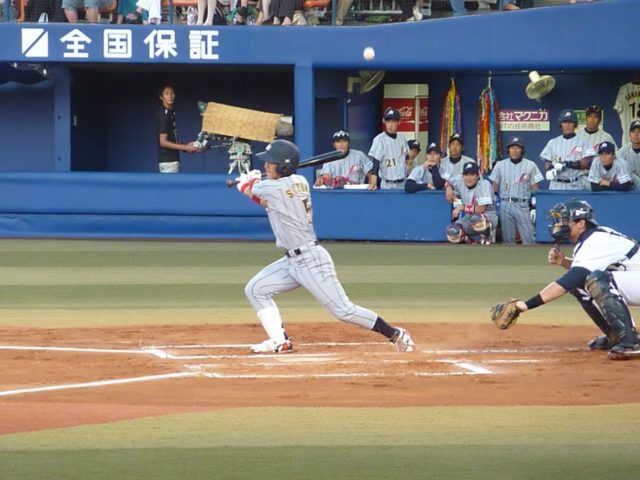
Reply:
M627 191L633 188L633 179L626 160L616 158L616 146L611 142L602 142L598 147L598 157L594 158L589 169L591 190Z

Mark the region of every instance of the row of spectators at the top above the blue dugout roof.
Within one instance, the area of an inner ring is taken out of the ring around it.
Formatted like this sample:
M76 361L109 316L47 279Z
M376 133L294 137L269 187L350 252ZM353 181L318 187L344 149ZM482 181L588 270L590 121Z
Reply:
M2 20L5 20L5 3L8 1L0 0ZM566 0L565 3L585 1L591 0ZM475 0L466 3L465 0L387 0L375 2L376 7L372 9L373 3L368 0L336 0L333 15L330 0L193 0L191 3L176 3L178 5L171 16L167 0L11 0L13 8L9 19L69 23L348 25L414 22L534 6L534 0ZM538 3L544 4L544 0L538 0ZM468 10L470 6L477 8Z

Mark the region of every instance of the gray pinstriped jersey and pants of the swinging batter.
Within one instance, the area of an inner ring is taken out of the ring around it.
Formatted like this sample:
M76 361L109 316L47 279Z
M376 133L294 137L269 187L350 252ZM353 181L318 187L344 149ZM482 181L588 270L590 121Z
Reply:
M331 255L318 245L306 178L294 174L262 180L252 192L268 202L267 216L276 245L286 250L284 257L263 268L245 287L253 308L257 312L277 309L274 295L303 286L340 320L372 329L378 314L349 300L338 281Z

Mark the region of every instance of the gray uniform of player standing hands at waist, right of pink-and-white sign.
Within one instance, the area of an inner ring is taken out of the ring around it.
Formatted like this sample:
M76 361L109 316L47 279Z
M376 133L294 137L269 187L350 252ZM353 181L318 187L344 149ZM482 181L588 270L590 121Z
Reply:
M585 143L578 135L573 135L570 138L559 135L547 142L540 158L556 164L573 162L593 155L595 155L593 147ZM565 166L561 172L558 172L556 178L549 182L549 190L589 190L587 173L588 170L577 170Z

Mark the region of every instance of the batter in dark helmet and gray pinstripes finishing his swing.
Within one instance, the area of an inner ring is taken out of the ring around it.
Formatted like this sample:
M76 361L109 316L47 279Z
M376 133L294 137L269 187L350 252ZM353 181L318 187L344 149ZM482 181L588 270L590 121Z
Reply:
M285 256L258 272L245 287L268 336L251 351L293 350L273 297L300 286L338 319L381 333L398 351L412 351L414 342L405 329L389 325L377 313L355 305L347 297L331 255L318 245L309 183L295 173L300 162L298 147L287 140L276 140L257 157L265 162L266 180L260 180L260 171L254 170L238 178L238 190L266 208L276 245L285 249Z

